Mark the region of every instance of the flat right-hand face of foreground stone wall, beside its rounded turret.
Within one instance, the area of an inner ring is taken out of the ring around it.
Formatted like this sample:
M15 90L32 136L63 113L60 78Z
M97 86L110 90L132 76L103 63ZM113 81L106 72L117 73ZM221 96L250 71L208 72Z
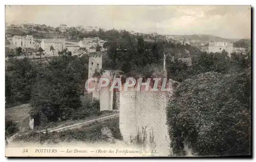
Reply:
M136 93L137 133L141 134L144 128L147 146L163 156L167 156L170 152L165 113L166 95L166 92L161 91L138 91Z

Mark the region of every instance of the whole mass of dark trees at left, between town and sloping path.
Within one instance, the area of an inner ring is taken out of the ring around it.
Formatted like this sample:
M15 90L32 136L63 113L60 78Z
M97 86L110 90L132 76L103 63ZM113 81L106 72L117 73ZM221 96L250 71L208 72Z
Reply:
M30 103L31 116L41 124L97 113L98 102L88 100L81 105L80 96L88 79L88 59L86 55L60 55L42 63L27 57L10 59L6 71L6 107Z

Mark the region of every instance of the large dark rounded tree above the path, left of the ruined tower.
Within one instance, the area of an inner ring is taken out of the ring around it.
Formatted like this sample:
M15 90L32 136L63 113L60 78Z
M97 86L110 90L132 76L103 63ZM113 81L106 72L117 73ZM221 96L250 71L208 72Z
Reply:
M81 70L74 68L75 65L78 67L77 61L67 61L63 57L53 58L49 62L33 86L32 117L40 119L42 123L72 118L73 113L81 106L82 94Z

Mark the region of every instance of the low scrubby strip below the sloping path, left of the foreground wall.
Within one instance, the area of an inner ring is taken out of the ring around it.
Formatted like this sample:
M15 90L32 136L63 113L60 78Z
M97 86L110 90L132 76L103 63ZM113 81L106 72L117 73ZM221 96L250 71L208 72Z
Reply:
M64 130L60 132L35 133L17 137L15 140L21 142L33 142L40 144L59 143L59 142L105 142L108 141L108 136L101 132L101 128L107 127L115 139L122 140L119 130L119 118L96 122L90 126L85 126L80 129Z

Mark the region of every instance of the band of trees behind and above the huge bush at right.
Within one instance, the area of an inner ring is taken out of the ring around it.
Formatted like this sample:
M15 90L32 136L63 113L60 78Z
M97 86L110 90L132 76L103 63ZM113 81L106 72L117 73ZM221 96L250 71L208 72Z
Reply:
M172 57L167 57L166 61L167 77L178 82L206 72L222 74L242 72L250 66L250 50L247 50L247 54L233 53L230 57L225 51L210 54L203 52L198 58L191 58L191 65L179 59L173 60Z

